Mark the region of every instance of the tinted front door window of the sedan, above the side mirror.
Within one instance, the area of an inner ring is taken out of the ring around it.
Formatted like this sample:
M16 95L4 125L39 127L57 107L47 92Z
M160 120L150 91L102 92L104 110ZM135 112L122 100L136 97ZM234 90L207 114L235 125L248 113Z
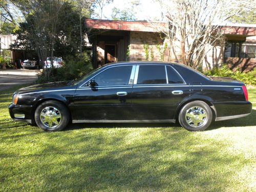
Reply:
M129 84L133 66L113 67L94 77L98 86L119 86Z

